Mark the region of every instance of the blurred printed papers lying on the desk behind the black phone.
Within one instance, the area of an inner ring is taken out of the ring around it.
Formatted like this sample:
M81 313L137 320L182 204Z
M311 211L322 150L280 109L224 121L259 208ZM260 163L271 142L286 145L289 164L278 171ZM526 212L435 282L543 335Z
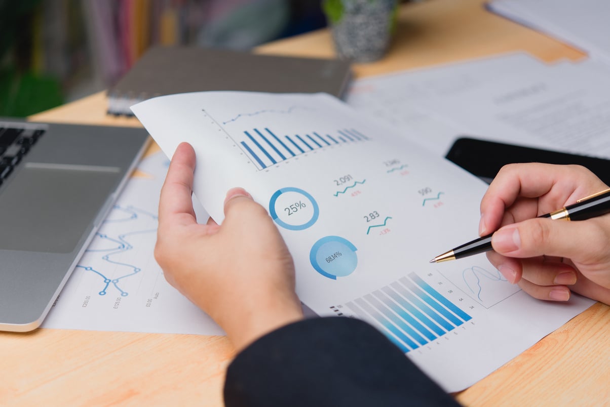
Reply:
M461 135L610 157L610 68L507 54L354 82L348 104L445 155Z

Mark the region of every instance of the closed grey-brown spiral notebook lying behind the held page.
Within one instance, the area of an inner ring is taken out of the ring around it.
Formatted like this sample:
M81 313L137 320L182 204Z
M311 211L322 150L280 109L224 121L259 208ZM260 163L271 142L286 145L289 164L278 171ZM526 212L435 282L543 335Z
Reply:
M131 116L129 107L138 102L194 91L325 92L342 97L350 78L350 63L337 59L157 46L110 88L107 113Z

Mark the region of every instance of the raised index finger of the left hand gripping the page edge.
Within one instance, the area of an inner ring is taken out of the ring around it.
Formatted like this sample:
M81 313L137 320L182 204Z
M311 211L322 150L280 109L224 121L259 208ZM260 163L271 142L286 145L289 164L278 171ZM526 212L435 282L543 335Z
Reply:
M195 161L195 150L190 144L176 147L159 197L159 227L165 222L182 225L196 222L191 197Z

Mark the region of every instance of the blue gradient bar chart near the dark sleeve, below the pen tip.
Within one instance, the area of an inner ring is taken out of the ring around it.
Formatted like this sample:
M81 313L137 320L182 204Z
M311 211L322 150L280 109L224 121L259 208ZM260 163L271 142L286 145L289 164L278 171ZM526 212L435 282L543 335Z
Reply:
M381 328L404 353L418 349L472 319L415 273L346 302L345 307L355 316Z

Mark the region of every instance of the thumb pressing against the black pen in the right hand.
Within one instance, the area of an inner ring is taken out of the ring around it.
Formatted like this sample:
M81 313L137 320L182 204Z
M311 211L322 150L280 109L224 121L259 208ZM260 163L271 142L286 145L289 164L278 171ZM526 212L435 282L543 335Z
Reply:
M507 257L567 257L584 264L603 261L609 237L600 219L554 221L534 218L493 233L493 250Z

